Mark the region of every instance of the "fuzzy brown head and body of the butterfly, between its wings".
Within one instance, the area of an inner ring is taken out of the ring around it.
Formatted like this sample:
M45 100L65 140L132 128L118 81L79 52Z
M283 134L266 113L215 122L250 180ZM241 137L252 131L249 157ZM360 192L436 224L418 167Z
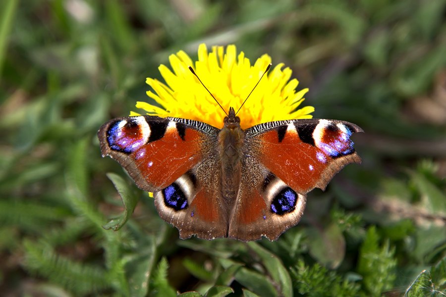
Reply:
M245 135L240 128L240 118L235 116L234 109L223 120L224 126L218 135L217 153L221 163L220 192L231 206L237 198L240 187L241 168L246 152ZM228 209L229 211L229 209Z

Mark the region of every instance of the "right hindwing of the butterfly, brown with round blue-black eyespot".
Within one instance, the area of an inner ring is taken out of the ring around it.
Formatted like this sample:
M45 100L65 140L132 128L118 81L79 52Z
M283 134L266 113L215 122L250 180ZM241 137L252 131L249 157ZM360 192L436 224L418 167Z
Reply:
M262 164L251 161L247 164L243 168L228 237L245 242L259 240L262 236L277 240L300 221L306 196L294 192Z

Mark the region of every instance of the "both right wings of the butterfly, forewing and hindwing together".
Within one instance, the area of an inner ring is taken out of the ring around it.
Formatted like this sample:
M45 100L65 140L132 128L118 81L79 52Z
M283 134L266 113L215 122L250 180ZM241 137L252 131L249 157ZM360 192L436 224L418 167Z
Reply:
M306 193L325 189L349 163L360 163L350 136L358 126L336 120L263 123L245 130L249 152L228 236L277 240L303 214ZM255 209L254 212L250 210Z

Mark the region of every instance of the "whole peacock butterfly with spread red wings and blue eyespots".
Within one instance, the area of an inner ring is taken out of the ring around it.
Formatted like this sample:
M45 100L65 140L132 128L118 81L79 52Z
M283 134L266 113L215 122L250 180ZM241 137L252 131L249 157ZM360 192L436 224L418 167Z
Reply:
M268 69L267 69L268 70ZM154 193L160 217L181 239L262 236L277 240L301 219L306 194L325 190L345 165L361 163L338 120L296 119L242 130L232 107L218 129L184 118L115 118L98 131L102 155Z

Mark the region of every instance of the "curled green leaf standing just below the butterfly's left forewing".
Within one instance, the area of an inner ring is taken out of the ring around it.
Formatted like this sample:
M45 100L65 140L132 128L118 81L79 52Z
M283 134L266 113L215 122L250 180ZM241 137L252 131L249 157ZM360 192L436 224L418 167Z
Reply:
M122 204L124 204L124 213L118 218L112 219L110 222L102 227L106 230L109 230L111 228L113 229L113 231L118 231L129 220L131 214L133 213L133 210L136 207L138 198L130 189L127 182L119 175L109 172L107 173L107 177L111 180L114 187L118 191L119 196L122 199Z

